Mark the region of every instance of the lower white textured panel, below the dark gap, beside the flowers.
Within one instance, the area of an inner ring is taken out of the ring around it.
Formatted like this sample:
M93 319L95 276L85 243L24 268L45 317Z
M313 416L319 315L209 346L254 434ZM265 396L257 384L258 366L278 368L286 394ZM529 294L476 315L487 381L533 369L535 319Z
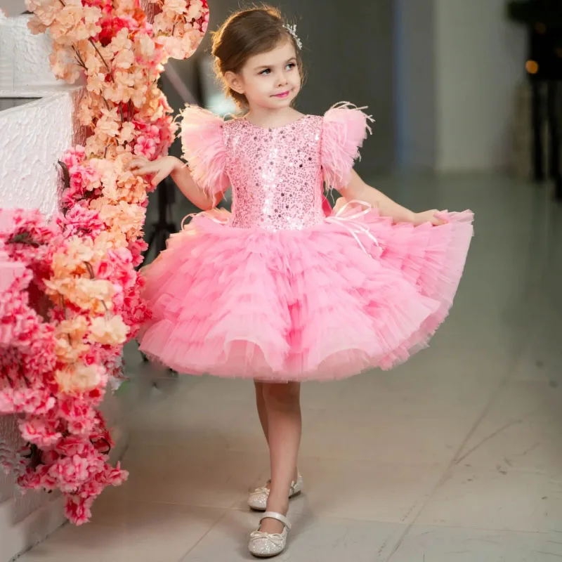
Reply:
M57 161L84 140L73 119L80 95L74 89L0 112L0 207L55 212Z

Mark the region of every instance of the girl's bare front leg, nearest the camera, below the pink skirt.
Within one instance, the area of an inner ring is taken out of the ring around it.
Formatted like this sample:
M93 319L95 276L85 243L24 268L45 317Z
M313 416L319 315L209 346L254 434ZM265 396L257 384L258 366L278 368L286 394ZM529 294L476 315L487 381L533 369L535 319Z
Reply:
M296 459L301 444L301 384L263 384L263 402L267 412L271 464L267 511L286 515L289 509L289 490L295 478ZM282 532L283 524L275 519L264 519L261 530Z

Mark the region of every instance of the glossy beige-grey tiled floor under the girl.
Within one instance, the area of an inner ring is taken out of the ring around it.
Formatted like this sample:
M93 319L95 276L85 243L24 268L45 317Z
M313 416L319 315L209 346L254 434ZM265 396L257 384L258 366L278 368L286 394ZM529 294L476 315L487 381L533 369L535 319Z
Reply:
M306 493L277 559L562 558L562 207L490 176L379 185L416 209L476 212L466 275L428 351L305 386ZM133 348L128 362L128 483L21 561L249 560L244 501L268 476L251 384L166 377Z

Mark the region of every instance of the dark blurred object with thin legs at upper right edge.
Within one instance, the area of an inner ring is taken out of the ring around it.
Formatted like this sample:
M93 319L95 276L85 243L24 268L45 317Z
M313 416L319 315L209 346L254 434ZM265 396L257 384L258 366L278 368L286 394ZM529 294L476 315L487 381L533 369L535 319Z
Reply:
M536 181L552 178L557 200L562 200L562 0L514 0L509 18L529 30L529 55L525 65L532 87L532 154ZM546 89L546 95L543 91ZM549 164L545 173L542 124L549 128Z

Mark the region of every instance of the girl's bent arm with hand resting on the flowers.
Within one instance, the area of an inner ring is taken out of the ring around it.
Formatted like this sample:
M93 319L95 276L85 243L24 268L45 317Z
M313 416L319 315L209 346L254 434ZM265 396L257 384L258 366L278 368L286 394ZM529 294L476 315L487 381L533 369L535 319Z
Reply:
M158 185L164 178L171 176L179 190L196 207L208 211L216 207L223 194L209 195L193 180L188 166L174 156L166 156L150 162L148 159L136 157L131 162L131 169L136 176L154 174L152 185Z

